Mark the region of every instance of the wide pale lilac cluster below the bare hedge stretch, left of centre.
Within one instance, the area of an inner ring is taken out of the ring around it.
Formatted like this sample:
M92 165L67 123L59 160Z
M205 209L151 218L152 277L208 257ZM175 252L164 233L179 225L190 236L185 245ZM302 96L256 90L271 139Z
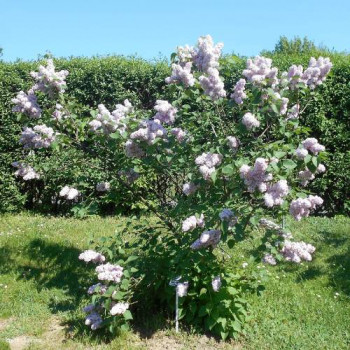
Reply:
M92 131L102 128L106 135L118 130L122 134L126 130L125 118L133 111L133 106L129 100L124 101L124 105L117 104L115 110L110 112L103 104L98 105L96 118L89 125Z

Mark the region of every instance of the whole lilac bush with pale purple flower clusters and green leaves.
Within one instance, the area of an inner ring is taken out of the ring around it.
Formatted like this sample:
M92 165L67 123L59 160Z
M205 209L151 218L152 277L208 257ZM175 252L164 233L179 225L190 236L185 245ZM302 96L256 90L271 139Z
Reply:
M113 238L80 256L97 264L99 282L88 289L92 303L85 308L93 330L127 327L132 303L144 312L152 305L172 309L169 281L176 278L180 317L198 330L235 337L249 318L244 293L259 290L264 278L237 265L230 255L235 244L261 227L265 236L256 259L270 265L312 260L315 247L294 241L279 223L287 213L301 220L322 207L322 198L306 186L326 170L325 147L299 125L305 108L300 97L312 96L332 64L311 58L305 70L293 65L279 72L271 59L258 56L247 60L233 91L225 91L222 47L210 36L195 47L178 47L166 78L175 98L157 100L154 111L125 100L113 111L100 104L77 115L64 94L68 72L56 72L52 60L32 73L28 93L13 99L14 110L32 125L20 138L27 157L14 163L24 181L47 178L53 170L35 164L35 152L71 145L118 161L91 193L74 183L57 188L63 201L88 205L116 183L132 194L142 178L167 178L162 201L152 188L141 195L157 221L134 227L136 242ZM40 107L41 94L51 106ZM123 244L133 255L125 256Z

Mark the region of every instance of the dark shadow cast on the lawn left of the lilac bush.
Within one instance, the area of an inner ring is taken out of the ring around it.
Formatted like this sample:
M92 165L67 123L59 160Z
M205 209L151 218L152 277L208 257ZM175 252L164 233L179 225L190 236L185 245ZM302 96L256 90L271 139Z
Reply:
M52 313L74 310L86 296L85 288L93 278L93 267L78 260L81 251L71 246L34 239L21 252L1 248L0 272L14 272L18 279L33 280L38 291L59 289L65 300L52 298Z

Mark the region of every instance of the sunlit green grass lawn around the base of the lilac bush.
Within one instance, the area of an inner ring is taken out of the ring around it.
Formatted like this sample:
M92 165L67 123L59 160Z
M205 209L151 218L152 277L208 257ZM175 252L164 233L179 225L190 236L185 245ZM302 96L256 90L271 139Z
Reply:
M0 350L6 344L17 350L350 349L349 218L293 223L295 238L316 246L314 261L267 267L266 291L249 296L254 315L249 335L228 343L175 334L170 321L156 316L149 322L152 332L138 326L110 343L91 335L81 307L94 281L78 255L90 235L111 235L120 225L125 219L0 216ZM242 262L258 241L257 232L239 247Z

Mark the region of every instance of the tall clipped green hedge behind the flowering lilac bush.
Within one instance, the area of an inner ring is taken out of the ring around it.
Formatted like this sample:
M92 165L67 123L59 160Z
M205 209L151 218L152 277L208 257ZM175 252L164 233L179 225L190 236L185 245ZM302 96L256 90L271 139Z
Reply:
M319 56L316 52L299 54L275 53L270 55L274 65L286 70L291 64L307 66L310 56ZM328 54L329 56L329 54ZM330 151L326 162L327 173L312 183L311 188L325 199L328 213L350 211L350 191L347 181L350 179L350 58L342 54L331 53L334 63L331 76L319 88L308 104L302 122L310 126L312 135ZM0 62L0 211L20 210L33 206L37 197L36 189L17 181L11 163L21 158L22 149L18 143L22 125L16 114L11 112L11 99L19 90L27 90L31 85L29 72L36 70L40 62ZM84 105L97 106L104 103L113 108L116 103L128 98L138 108L151 109L157 98L169 98L166 95L164 79L169 74L167 62L147 62L138 58L119 56L72 58L55 60L58 69L67 69L68 94ZM225 57L222 62L222 75L226 89L241 77L245 60L239 57ZM82 173L86 172L89 159L81 159L78 152L66 156L72 163L79 159ZM45 154L43 161L55 162ZM47 157L47 159L45 159ZM53 181L64 184L67 174L55 174ZM88 171L85 175L91 184L99 180L100 174ZM44 190L45 191L45 190ZM42 207L53 210L48 200L52 189L46 189ZM130 203L129 203L130 204ZM124 203L125 208L125 203Z

